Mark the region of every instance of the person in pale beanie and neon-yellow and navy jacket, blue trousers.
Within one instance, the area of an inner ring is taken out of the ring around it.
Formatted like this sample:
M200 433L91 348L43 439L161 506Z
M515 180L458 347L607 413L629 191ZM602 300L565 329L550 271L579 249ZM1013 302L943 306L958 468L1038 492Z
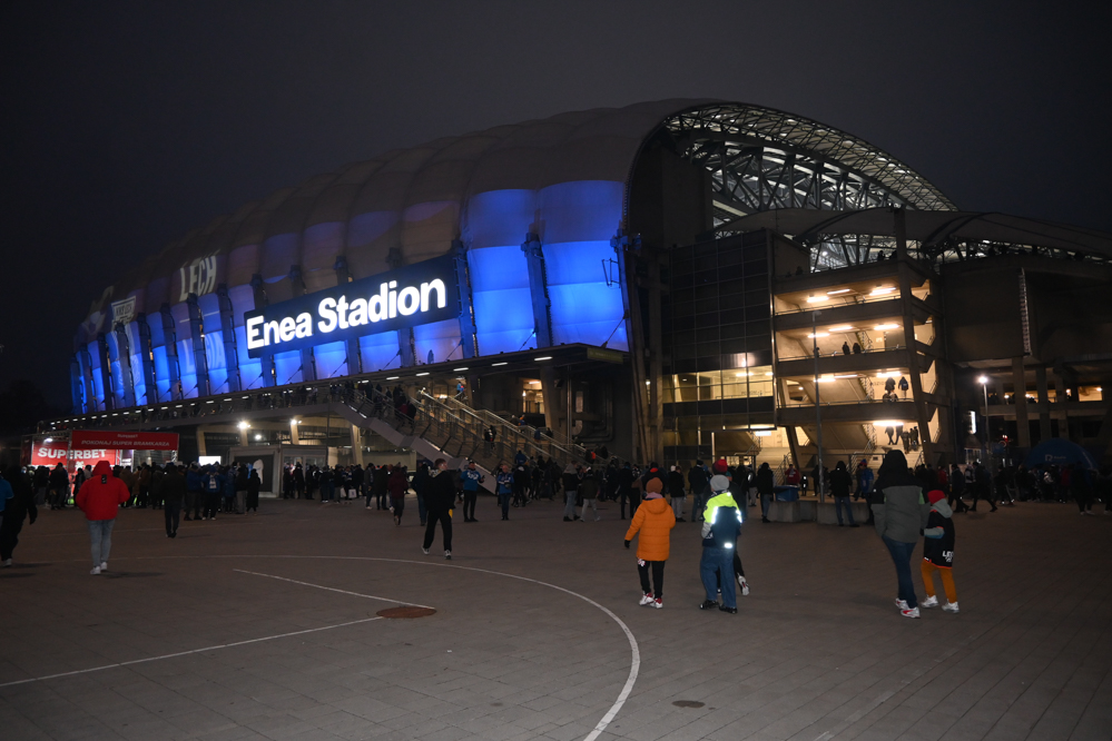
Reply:
M737 614L737 592L734 580L734 552L737 551L738 535L741 534L741 510L730 494L730 480L726 476L711 476L712 496L707 502L702 523L702 559L699 573L707 599L700 610L718 607L722 612ZM718 604L718 589L721 585L722 604Z

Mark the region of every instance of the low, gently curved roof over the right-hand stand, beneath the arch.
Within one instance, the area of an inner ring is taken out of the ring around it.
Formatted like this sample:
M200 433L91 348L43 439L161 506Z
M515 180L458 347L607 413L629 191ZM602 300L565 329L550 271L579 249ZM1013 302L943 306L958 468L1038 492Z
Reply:
M1083 227L978 211L904 211L906 238L917 243L921 256L932 259L965 259L990 248L1044 249L1061 257L1079 255L1112 259L1112 234ZM746 216L719 227L719 231L741 233L773 229L806 244L853 237L896 236L892 208L815 211L783 208ZM890 240L885 240L892 245Z

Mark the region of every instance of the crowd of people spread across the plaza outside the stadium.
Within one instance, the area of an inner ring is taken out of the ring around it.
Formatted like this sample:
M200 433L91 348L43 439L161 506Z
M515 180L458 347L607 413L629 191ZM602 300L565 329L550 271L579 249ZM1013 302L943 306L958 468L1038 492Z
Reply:
M602 454L600 454L602 453ZM417 513L424 527L425 554L441 530L444 557L452 557L453 513L463 510L463 522L478 522L479 492L486 475L474 462L449 468L447 462L421 461L411 474L402 463L366 466L287 464L281 472L281 496L319 498L322 504L363 500L364 506L388 511L394 525L402 524L406 496L415 494ZM671 531L678 523L701 525L703 553L700 577L706 590L703 610L737 612L737 593L749 593L749 584L738 554L737 539L748 520L748 507L760 506L762 522L769 522L775 497L776 474L767 463L760 466L731 466L725 458L711 465L697 461L686 472L678 465L665 470L656 463L644 466L609 457L606 451L592 452L581 463L561 465L538 455L530 458L518 452L512 462L498 466L492 488L503 521L515 507L538 500L562 501L564 522L601 518L598 503L618 504L621 520L631 521L624 545L638 541L637 563L641 586L640 604L663 605L665 564L670 553ZM897 576L896 606L907 618L918 618L921 607L942 606L958 612L953 579L956 528L954 515L976 512L983 501L990 512L998 504L1017 501L1073 500L1082 515L1092 515L1095 501L1104 502L1104 514L1112 510L1112 471L1092 471L1074 464L1026 468L1023 465L996 465L981 462L960 466L909 467L904 453L888 451L874 474L867 460L849 471L838 461L834 470L816 466L804 475L794 466L783 472L785 486L817 490L823 482L834 498L838 525L858 527L852 502L864 500L872 524L893 560ZM217 515L247 515L258 511L262 480L259 472L245 464L201 466L197 463L165 465L142 464L79 468L70 483L62 464L13 466L0 478L0 561L11 565L12 552L24 522L35 523L38 510L80 508L88 521L94 574L108 569L112 524L119 507L164 511L167 537L176 537L180 520L216 520ZM317 494L319 495L317 497ZM688 496L691 497L688 507ZM972 500L972 503L968 501ZM590 513L590 514L589 514ZM184 515L184 516L183 516ZM844 522L845 520L848 523ZM926 599L919 602L912 580L911 559L923 539L921 564ZM946 601L935 593L938 574Z

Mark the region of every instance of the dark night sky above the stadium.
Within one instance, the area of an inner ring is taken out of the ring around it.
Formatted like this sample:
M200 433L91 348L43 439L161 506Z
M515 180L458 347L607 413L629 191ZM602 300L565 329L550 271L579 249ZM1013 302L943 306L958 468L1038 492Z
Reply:
M90 302L219 214L569 110L780 108L888 150L960 208L1112 231L1108 8L8 0L0 387L33 378L68 406Z

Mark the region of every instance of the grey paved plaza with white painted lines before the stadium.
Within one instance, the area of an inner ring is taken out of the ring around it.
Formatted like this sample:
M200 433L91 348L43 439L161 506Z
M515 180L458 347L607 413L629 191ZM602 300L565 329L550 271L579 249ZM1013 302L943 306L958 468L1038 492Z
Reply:
M38 739L1094 739L1112 737L1112 516L956 515L962 612L899 615L872 528L745 525L752 593L697 609L695 524L662 610L628 523L491 497L421 553L361 503L183 522L121 511L89 575L79 512L40 511L0 572L0 735ZM1101 507L1098 506L1098 511ZM922 596L918 570L916 583ZM400 605L430 616L382 618Z

